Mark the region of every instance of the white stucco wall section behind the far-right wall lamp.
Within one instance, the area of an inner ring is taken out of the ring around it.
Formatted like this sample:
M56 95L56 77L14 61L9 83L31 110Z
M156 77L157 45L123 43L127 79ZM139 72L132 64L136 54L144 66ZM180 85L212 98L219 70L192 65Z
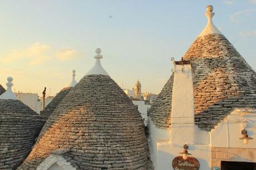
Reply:
M248 144L244 144L241 130L246 129L252 137ZM256 111L244 112L236 109L211 131L211 147L256 148Z

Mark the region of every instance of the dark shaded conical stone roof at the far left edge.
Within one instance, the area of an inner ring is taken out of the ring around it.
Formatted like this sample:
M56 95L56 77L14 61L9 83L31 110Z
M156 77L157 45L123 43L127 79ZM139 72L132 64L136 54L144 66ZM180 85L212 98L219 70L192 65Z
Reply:
M7 91L11 93L10 88ZM30 153L44 122L41 116L18 99L0 99L0 169L20 166Z

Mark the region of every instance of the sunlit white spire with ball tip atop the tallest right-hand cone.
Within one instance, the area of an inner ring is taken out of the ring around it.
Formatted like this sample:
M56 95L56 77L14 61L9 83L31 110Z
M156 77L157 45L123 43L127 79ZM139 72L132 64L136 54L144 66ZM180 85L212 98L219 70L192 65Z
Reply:
M212 6L207 6L206 7L206 13L205 16L207 17L208 21L206 24L206 27L204 28L204 30L199 34L199 37L205 36L207 34L222 34L218 28L216 28L214 26L214 24L212 23L212 17L214 16L214 12L213 11L213 7Z

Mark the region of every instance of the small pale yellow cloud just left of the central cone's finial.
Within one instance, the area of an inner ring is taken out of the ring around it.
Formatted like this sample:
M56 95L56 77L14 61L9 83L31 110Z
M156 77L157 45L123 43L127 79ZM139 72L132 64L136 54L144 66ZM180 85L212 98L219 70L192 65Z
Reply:
M56 56L61 61L66 61L80 56L80 53L73 48L61 48L57 50Z

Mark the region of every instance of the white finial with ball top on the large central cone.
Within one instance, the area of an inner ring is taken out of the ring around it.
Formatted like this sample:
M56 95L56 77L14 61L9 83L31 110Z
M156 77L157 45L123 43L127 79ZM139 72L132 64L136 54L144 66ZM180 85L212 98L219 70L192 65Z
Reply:
M97 49L95 49L95 53L96 53L96 55L94 56L94 58L96 59L95 65L93 68L90 69L90 71L88 73L86 73L86 76L93 75L93 74L109 76L109 74L102 67L102 64L100 64L100 59L103 58L103 56L100 54L100 53L102 53L102 50L100 48L97 48Z

